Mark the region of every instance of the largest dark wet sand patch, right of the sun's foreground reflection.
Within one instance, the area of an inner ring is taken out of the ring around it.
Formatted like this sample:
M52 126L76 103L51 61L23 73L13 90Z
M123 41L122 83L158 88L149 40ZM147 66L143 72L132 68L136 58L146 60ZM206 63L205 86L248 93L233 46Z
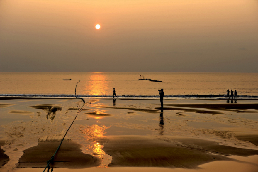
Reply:
M104 144L103 150L112 156L110 167L198 168L198 165L212 161L236 161L226 155L258 154L257 150L190 138L155 140L144 136L117 136L99 142Z

